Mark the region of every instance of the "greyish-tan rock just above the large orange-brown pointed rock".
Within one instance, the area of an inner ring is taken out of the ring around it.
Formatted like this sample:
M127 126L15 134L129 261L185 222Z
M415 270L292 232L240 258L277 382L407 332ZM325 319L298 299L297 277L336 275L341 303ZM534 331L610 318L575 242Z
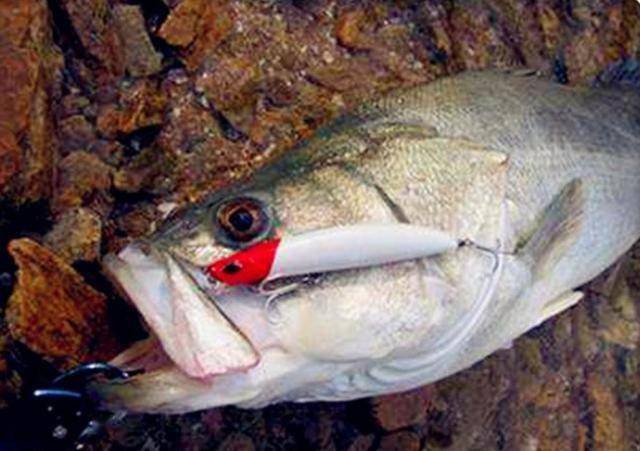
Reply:
M100 257L101 236L100 217L89 209L78 208L58 218L44 243L69 263L95 261Z

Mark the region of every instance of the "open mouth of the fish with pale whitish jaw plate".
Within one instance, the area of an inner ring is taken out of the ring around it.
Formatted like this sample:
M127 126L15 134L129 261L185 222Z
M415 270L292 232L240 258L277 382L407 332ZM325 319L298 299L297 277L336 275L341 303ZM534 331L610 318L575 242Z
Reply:
M194 271L170 252L133 243L105 257L104 268L150 332L112 364L147 374L177 369L205 384L259 364L256 346L216 305L206 281L195 278Z

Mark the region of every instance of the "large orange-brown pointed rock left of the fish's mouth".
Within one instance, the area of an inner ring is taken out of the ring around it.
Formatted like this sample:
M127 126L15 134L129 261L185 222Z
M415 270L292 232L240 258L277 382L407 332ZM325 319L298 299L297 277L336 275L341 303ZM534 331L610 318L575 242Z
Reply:
M18 278L6 310L11 335L61 369L108 360L118 345L107 327L107 301L60 257L30 239L9 253Z

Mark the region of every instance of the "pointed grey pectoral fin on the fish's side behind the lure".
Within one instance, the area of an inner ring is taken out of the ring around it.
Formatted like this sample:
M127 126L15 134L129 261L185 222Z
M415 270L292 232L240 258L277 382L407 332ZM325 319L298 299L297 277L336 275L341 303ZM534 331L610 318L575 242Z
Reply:
M540 225L518 251L530 262L535 279L552 269L575 243L582 224L583 208L582 179L566 184L547 207Z

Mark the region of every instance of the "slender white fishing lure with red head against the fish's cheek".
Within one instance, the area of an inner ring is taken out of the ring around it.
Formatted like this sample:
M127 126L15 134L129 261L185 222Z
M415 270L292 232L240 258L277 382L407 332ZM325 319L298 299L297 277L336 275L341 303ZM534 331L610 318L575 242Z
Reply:
M255 285L414 260L465 244L445 232L411 224L338 226L261 241L213 262L206 272L227 285Z

